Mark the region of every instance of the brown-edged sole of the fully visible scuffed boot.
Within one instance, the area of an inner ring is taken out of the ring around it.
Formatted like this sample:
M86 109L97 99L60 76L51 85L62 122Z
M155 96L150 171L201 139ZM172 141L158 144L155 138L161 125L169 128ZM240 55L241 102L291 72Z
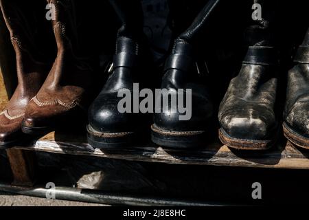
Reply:
M265 151L275 144L275 140L246 140L231 137L224 129L219 130L219 139L229 148L247 151Z

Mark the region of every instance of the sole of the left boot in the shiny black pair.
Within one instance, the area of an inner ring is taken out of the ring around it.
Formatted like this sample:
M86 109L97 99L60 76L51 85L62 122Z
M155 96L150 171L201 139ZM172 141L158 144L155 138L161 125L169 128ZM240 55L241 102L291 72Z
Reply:
M131 146L135 142L135 132L102 133L87 125L88 143L94 148L116 148Z

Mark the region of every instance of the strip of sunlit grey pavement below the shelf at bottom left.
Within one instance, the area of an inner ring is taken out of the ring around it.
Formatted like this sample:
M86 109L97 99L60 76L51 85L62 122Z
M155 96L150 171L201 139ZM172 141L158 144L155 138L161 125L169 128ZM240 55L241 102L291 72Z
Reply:
M96 203L83 203L78 201L63 201L14 195L0 192L0 206L106 206Z

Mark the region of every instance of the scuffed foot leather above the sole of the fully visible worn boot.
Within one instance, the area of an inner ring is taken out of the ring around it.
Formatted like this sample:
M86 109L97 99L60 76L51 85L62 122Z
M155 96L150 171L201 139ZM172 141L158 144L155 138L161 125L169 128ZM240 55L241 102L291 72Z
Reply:
M262 65L242 65L231 80L219 109L225 131L245 140L268 140L277 128L275 69Z

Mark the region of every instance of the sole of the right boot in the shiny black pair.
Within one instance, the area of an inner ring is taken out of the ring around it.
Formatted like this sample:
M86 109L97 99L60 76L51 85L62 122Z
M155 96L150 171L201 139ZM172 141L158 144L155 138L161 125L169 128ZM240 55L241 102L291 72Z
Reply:
M151 130L152 142L168 148L198 148L206 142L206 131L165 131L155 124Z

